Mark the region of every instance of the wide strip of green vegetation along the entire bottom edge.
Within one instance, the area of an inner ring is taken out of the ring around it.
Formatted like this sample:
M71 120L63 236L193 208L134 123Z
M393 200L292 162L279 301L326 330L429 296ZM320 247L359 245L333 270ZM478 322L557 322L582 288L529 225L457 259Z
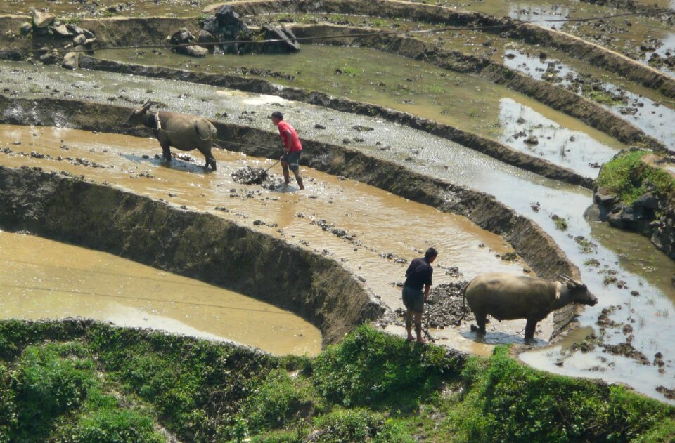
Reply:
M93 322L0 322L0 442L668 441L620 386L360 326L315 359ZM163 428L164 433L158 432Z

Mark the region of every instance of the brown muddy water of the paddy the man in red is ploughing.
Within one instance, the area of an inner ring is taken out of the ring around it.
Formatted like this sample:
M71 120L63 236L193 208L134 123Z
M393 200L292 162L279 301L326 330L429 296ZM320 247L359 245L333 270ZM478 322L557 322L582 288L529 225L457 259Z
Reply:
M405 262L431 245L440 253L437 283L452 280L445 274L449 267L458 267L468 277L488 270L521 274L525 266L519 260L501 260L499 255L513 249L501 237L463 217L318 171L303 170L307 190L287 192L281 187L269 190L235 183L232 171L244 166L267 168L272 162L221 150L214 152L219 170L205 173L198 166L203 159L193 155L181 155L184 159L175 159L171 165L155 159L160 148L150 139L1 126L0 140L20 143L8 145L13 152L0 154L4 166L30 164L84 174L91 180L164 199L191 211L208 211L330 256L362 277L392 310L402 307L400 289L394 285L404 280ZM40 156L45 157L37 158ZM98 167L83 166L86 162L65 157L86 159ZM278 174L279 169L276 166L272 171ZM550 332L550 325L543 327ZM475 348L473 342L462 341ZM483 352L489 352L488 348Z

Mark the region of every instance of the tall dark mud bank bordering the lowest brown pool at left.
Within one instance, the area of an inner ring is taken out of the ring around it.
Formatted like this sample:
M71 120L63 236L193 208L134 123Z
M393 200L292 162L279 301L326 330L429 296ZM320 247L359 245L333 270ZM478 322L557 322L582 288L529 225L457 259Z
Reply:
M246 293L309 320L323 345L385 312L332 260L216 216L77 178L0 167L0 224Z

